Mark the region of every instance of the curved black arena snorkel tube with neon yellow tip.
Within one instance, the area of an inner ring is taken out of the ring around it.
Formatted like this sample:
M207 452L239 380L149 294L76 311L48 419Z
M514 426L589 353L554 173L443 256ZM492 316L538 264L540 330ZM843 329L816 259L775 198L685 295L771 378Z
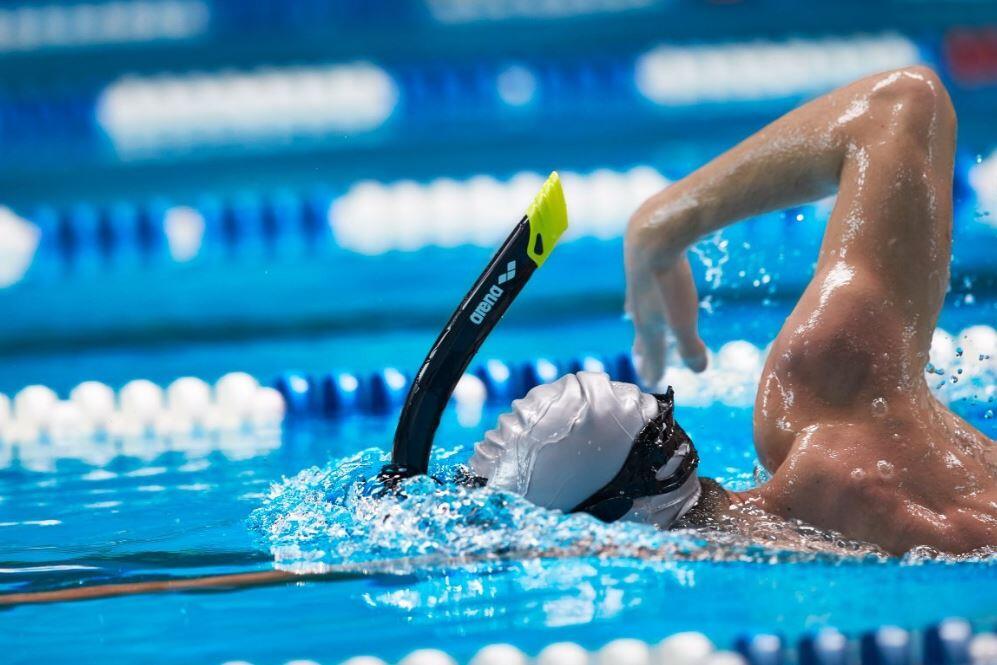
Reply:
M567 227L564 192L554 172L464 296L415 375L395 430L391 464L381 470L383 481L426 473L433 436L457 382Z

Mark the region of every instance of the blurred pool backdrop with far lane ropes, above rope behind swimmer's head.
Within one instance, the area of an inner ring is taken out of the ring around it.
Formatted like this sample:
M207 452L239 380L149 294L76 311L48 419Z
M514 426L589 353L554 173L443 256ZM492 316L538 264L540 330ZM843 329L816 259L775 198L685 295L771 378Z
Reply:
M993 325L991 2L4 1L0 390L413 369L553 169L572 228L504 326L521 355L581 352L517 326L622 329L644 197L912 63L960 120L946 316ZM746 308L766 343L830 204L701 243L704 311Z

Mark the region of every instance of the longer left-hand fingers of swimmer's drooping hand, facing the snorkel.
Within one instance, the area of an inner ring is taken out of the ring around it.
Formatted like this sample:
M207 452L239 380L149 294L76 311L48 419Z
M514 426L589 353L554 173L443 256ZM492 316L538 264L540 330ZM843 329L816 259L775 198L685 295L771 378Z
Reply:
M665 372L664 302L653 277L628 275L627 281L627 314L634 325L634 367L641 382L654 388Z

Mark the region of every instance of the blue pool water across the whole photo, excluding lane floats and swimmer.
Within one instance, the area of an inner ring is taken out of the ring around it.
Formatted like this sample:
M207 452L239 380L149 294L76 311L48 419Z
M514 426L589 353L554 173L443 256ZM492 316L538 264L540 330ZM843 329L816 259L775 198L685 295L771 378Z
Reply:
M2 4L13 12L32 3ZM210 381L236 370L264 382L287 370L411 373L491 249L361 256L337 245L326 199L368 178L505 179L523 169L589 173L636 164L675 178L799 101L651 104L634 85L634 65L663 42L884 30L910 37L945 78L960 120L953 289L940 326L955 333L997 325L997 234L981 196L987 188L970 178L994 150L997 87L959 76L949 48L957 29L997 21L993 3L931 0L898 12L897 3L818 2L794 12L782 0L651 1L617 13L467 25L436 22L431 8L441 3L425 0L204 4L211 19L191 42L6 52L0 204L47 232L25 279L0 289L0 392L41 383L66 396L84 380L120 387L136 378ZM15 34L37 32L35 21L15 23ZM391 122L367 134L209 142L129 159L94 114L101 90L121 76L354 59L383 66L401 91ZM513 62L536 74L536 103L527 107L495 94L494 79ZM290 205L271 206L281 196ZM167 203L205 213L227 206L232 228L209 228L197 259L176 263L158 227ZM37 213L46 209L61 221L45 222ZM812 273L823 214L803 206L725 232L733 251L724 279L701 293L712 348L772 339ZM562 242L481 358L625 351L622 225L613 229L616 237ZM939 380L954 378L947 372ZM986 414L995 406L966 399L954 408L993 437L997 419ZM369 478L396 415L298 421L279 435L137 442L113 457L103 445L39 445L22 449L17 462L0 443L0 593L275 565L387 560L392 571L0 609L0 662L328 664L363 653L397 659L419 647L466 659L496 641L531 654L557 640L595 648L677 630L726 644L755 629L794 637L822 625L916 628L950 614L997 626L992 559L720 547L695 534L605 526L426 480L401 499L377 499ZM444 481L497 415L487 409L474 426L444 416L437 437L448 453L439 460ZM748 408L680 406L678 416L705 475L731 487L754 482ZM443 562L468 554L476 560Z

